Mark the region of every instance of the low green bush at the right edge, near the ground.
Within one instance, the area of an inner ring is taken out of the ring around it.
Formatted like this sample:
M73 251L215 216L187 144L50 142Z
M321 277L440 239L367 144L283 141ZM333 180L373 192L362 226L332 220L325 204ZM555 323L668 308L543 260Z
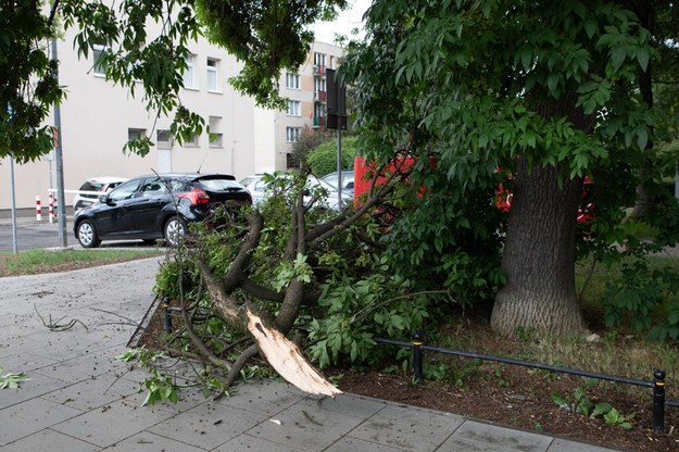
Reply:
M678 292L676 267L652 268L644 260L624 263L620 277L603 294L606 325L629 322L652 339L679 341Z

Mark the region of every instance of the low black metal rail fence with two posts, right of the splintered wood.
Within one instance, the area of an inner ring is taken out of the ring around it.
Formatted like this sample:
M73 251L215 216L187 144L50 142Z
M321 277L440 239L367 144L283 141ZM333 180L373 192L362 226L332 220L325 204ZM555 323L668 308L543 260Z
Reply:
M653 372L653 381L638 380L633 378L627 377L618 377L614 375L599 374L596 372L588 372L588 371L579 371L569 367L561 367L550 364L541 364L529 361L515 360L512 357L503 357L503 356L494 356L490 354L481 354L474 352L466 352L462 350L452 350L445 349L441 347L431 347L425 346L423 336L419 332L413 335L413 340L411 342L404 342L400 340L392 339L374 339L377 343L388 344L388 346L397 346L397 347L410 347L413 349L413 377L415 384L420 384L425 380L424 371L423 371L423 361L425 352L435 352L442 354L450 354L455 356L464 356L476 360L483 361L493 361L496 363L503 364L512 364L524 367L539 368L543 371L555 372L559 374L570 374L577 375L580 377L595 378L600 380L608 380L620 382L625 385L633 385L633 386L642 386L646 388L653 389L653 430L663 431L665 429L665 406L674 406L679 407L679 401L666 401L665 400L665 372L661 369L655 369Z

